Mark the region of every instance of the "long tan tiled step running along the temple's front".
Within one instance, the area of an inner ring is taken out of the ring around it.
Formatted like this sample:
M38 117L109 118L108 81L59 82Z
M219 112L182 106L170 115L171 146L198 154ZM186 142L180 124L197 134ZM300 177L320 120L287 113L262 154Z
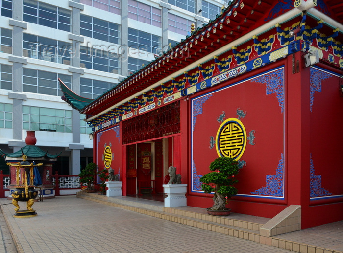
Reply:
M188 206L164 207L164 203L159 201L125 196L107 197L97 193L86 193L85 191L78 192L77 197L294 252L343 253L297 241L261 235L259 229L271 220L268 218L238 213L231 213L230 216L226 217L217 217L208 215L204 208Z

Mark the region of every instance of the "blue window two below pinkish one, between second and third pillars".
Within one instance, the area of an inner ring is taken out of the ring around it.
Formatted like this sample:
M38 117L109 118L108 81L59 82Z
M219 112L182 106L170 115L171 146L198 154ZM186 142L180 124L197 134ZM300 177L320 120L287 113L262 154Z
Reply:
M86 69L118 74L120 64L118 56L111 54L107 49L81 46L80 66Z

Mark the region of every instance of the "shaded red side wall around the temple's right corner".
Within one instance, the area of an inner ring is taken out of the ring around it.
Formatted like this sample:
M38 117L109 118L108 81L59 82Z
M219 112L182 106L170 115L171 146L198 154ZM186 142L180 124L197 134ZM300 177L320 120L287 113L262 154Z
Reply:
M303 168L309 178L308 195L304 196L309 196L309 205L302 205L303 227L343 219L343 135L340 134L343 125L343 97L339 91L341 78L339 74L319 67L311 67L309 76L309 150L307 166Z

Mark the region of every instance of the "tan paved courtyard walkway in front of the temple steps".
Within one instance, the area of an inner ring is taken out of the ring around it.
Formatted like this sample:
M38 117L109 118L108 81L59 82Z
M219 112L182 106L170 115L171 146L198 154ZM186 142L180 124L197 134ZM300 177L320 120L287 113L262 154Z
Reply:
M5 203L10 201L0 199ZM19 253L292 252L76 196L47 199L32 207L36 217L14 218L13 205L1 206ZM6 253L1 244L0 252Z

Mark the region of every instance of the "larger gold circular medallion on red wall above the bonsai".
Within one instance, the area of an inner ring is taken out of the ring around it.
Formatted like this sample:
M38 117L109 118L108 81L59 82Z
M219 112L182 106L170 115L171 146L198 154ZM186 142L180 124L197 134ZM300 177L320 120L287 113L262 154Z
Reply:
M246 132L237 118L226 119L218 129L216 149L220 157L241 158L246 146Z

